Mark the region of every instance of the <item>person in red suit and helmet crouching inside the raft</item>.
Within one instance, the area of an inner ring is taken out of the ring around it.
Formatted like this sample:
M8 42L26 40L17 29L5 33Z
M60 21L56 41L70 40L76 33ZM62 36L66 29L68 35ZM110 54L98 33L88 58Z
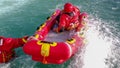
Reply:
M61 11L58 27L53 29L56 32L62 32L64 30L73 30L79 25L80 10L72 5L66 3L64 9Z

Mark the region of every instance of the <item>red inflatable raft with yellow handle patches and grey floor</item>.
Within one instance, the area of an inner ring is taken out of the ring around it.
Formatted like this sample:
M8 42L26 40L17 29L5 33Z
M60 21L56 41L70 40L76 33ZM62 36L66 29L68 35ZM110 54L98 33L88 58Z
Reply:
M77 32L55 33L51 30L60 10L56 10L35 32L38 40L28 41L23 50L32 59L44 64L61 64L73 56L84 44L84 37Z

